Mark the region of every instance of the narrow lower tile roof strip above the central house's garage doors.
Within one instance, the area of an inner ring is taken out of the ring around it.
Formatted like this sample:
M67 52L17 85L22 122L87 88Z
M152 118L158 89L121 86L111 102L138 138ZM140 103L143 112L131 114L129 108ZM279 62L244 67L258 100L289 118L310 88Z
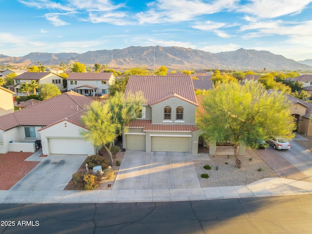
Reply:
M136 120L131 122L129 128L143 128L143 131L168 131L168 132L192 132L198 128L195 125L157 125L151 120Z

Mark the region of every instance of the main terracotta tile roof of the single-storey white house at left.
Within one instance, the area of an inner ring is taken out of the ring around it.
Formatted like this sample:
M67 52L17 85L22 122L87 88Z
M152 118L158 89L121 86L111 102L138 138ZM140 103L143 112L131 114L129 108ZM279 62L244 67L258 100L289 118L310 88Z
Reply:
M28 106L13 113L0 116L0 129L17 126L48 126L83 110L92 99L76 92L67 92L48 100Z

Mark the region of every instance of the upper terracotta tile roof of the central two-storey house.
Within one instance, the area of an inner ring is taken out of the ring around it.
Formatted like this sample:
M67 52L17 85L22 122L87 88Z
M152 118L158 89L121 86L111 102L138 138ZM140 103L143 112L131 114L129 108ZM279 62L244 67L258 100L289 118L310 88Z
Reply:
M170 93L196 104L191 76L130 76L125 96L128 92L138 91L143 92L147 105L156 103Z

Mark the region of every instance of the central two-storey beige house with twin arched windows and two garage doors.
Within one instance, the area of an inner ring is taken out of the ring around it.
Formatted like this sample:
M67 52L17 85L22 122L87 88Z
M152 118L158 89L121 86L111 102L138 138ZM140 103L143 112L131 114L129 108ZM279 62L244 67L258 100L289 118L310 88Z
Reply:
M197 101L191 76L130 76L125 90L146 99L141 118L123 133L125 149L198 153Z

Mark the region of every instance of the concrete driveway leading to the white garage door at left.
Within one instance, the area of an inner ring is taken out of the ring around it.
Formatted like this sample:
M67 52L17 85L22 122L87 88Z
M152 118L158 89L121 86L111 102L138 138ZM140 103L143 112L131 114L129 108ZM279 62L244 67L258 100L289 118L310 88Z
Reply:
M50 154L10 190L64 190L86 158L87 155Z

